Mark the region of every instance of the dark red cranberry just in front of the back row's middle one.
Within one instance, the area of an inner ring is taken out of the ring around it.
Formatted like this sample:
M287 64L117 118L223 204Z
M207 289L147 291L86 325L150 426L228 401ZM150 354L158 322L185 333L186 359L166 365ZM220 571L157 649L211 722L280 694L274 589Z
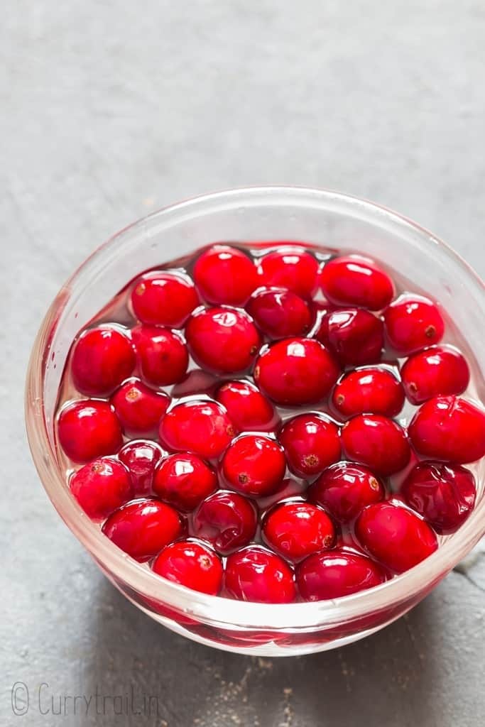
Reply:
M291 290L260 288L249 298L247 310L270 338L302 336L310 329L308 303Z

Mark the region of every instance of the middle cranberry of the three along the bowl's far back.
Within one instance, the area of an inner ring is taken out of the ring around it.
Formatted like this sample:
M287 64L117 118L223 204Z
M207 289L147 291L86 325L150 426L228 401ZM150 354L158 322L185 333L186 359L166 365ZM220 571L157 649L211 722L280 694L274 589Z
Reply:
M262 285L291 290L311 298L318 286L318 262L298 246L284 245L268 252L257 266Z

